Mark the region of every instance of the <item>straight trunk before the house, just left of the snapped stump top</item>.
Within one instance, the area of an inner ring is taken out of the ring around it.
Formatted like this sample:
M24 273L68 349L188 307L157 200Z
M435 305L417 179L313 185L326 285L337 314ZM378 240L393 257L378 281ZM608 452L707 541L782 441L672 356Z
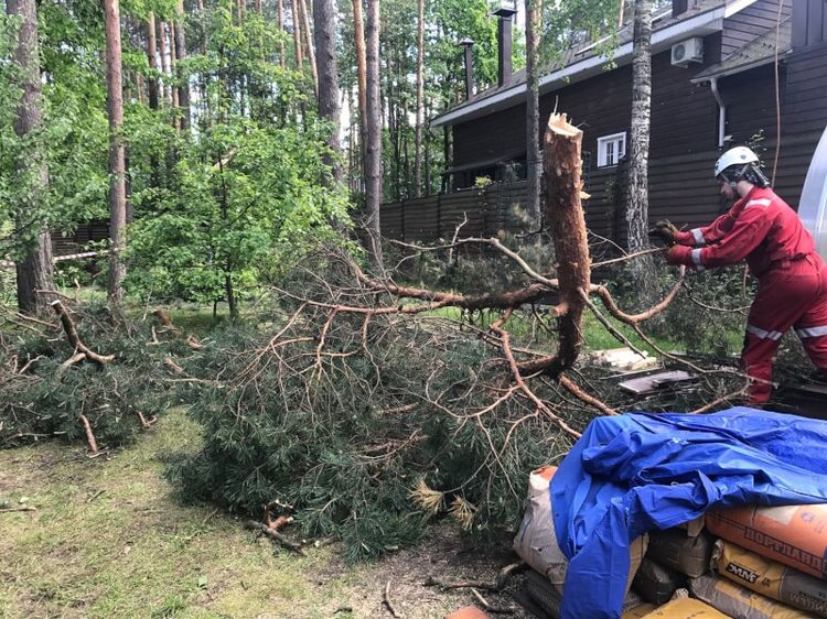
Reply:
M530 219L540 217L540 86L539 39L543 0L526 0L526 211Z

